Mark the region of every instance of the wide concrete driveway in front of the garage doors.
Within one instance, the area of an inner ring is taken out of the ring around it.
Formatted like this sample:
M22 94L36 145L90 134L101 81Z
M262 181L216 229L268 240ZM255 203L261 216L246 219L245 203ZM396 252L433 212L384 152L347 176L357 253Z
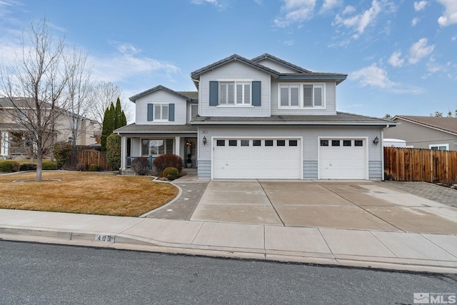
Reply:
M210 181L191 220L457 234L456 208L374 181Z

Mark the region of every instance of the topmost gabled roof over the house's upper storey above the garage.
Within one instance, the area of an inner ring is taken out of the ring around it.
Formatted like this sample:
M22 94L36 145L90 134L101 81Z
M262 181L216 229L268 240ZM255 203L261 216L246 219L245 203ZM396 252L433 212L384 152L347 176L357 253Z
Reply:
M258 64L257 61L261 61L261 59L270 59L276 61L284 66L288 66L289 68L296 70L296 73L281 73L267 66L263 66L263 64ZM270 74L275 79L284 79L284 80L291 80L291 79L333 79L336 81L336 84L340 84L341 81L344 81L348 74L338 74L338 73L325 73L325 72L313 72L306 69L301 68L300 66L296 66L294 64L289 63L288 61L283 61L282 59L278 59L275 56L270 54L263 54L261 56L256 57L253 60L246 59L244 57L239 56L238 54L233 54L232 56L226 57L225 59L221 59L220 61L216 61L213 64L209 64L208 66L204 66L201 69L198 69L191 73L191 78L194 80L194 83L198 87L197 80L201 74L204 74L207 71L215 69L219 66L224 64L228 64L231 61L240 61L243 64L247 64L248 66L252 66L258 70L264 71Z

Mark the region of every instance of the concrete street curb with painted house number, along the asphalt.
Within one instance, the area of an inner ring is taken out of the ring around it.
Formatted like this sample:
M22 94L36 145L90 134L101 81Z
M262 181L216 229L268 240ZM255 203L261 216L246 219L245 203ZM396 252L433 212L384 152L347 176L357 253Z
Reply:
M19 229L14 226L0 227L0 240L8 241L29 241L44 244L65 244L74 246L93 246L107 249L124 249L131 251L148 251L164 254L184 254L194 256L209 256L227 259L254 259L259 261L280 261L299 264L316 264L321 266L347 266L366 269L382 269L390 271L415 271L433 272L439 274L457 274L457 266L440 266L436 264L426 264L427 261L417 259L398 259L401 262L381 261L376 258L361 257L357 259L326 257L324 255L313 254L306 256L307 253L284 251L271 251L267 249L243 249L228 248L220 246L199 246L189 244L171 244L164 241L145 239L139 236L127 234L110 234L114 236L114 241L96 240L94 232L84 231L56 231L51 229ZM419 264L423 262L423 264ZM443 262L442 262L443 263ZM452 262L447 262L455 265Z

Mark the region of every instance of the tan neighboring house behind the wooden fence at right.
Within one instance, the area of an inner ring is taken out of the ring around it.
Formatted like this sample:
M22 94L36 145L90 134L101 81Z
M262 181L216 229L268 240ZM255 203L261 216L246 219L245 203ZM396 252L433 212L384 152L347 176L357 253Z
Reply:
M384 137L406 141L415 149L457 151L457 118L436 116L394 116L396 128L384 131Z

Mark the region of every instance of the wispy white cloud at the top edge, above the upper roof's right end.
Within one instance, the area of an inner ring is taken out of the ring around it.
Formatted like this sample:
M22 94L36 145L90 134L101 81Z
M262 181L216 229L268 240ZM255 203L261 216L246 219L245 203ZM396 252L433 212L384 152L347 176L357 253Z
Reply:
M371 7L366 11L363 11L361 14L343 17L341 15L348 15L354 11L352 6L350 9L348 9L349 6L346 6L343 14L336 15L333 25L346 26L347 28L352 29L355 32L353 34L353 38L358 39L358 37L363 34L367 26L373 26L379 14L390 11L393 6L394 4L392 2L388 2L386 0L373 0L371 2Z

